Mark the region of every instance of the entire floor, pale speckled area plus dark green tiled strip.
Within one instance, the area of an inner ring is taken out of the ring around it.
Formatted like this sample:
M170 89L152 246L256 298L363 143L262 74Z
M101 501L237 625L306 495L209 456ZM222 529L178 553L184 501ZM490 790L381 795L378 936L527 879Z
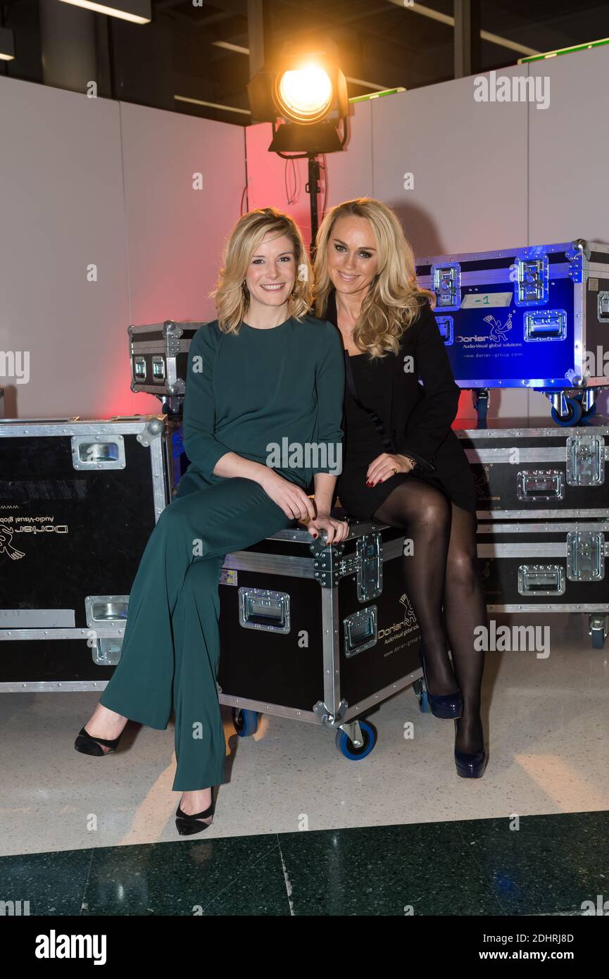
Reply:
M590 648L584 617L522 619L549 626L550 655L488 654L484 778L457 777L453 724L421 714L411 689L369 716L378 743L359 762L310 724L262 717L239 738L225 710L228 781L190 839L173 821L171 726L129 724L117 754L90 758L72 745L98 694L6 694L3 899L30 887L59 913L581 913L609 892L609 651Z

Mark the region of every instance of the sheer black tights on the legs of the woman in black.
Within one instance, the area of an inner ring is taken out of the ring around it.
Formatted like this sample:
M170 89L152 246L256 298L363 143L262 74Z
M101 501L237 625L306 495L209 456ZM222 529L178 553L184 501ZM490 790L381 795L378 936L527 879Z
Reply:
M460 751L480 751L485 654L474 649L474 629L488 628L488 618L478 570L475 518L451 503L440 489L416 477L400 483L373 516L405 532L403 581L421 629L430 690L436 695L452 693L456 678L463 696L463 716L457 721L455 746ZM408 539L412 540L409 550Z

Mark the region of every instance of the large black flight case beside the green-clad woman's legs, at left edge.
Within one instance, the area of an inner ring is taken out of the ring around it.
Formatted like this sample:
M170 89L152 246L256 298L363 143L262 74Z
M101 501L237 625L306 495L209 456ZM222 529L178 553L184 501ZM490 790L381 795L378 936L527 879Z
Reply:
M112 676L170 498L167 433L164 415L0 421L0 690L102 689Z

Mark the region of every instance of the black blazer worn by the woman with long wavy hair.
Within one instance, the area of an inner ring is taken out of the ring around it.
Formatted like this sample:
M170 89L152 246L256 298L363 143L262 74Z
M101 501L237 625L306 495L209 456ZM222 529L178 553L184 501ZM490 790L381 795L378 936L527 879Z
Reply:
M338 328L334 289L323 318ZM412 361L405 357L412 357ZM455 384L445 343L427 298L420 315L403 333L398 354L390 351L381 364L387 384L379 415L396 452L412 456L424 472L438 477L469 468L465 451L451 428L461 389ZM411 370L404 370L410 365ZM357 396L365 406L365 391L357 391Z

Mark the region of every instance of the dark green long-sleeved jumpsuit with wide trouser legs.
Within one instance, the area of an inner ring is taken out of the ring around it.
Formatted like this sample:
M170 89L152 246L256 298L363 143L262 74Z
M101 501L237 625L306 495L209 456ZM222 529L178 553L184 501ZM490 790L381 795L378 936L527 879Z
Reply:
M215 320L192 339L183 405L190 465L142 555L120 659L100 698L161 730L173 702L176 791L224 781L216 686L224 556L294 523L258 483L213 467L237 452L305 492L314 473L338 475L344 378L337 329L312 316L270 329L242 323L237 335Z

